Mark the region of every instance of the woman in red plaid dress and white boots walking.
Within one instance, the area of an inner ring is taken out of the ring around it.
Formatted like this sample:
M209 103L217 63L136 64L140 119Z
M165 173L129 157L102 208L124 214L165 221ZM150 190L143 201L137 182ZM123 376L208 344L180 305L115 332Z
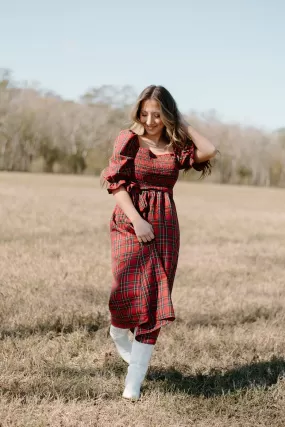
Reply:
M180 234L173 187L179 170L209 174L217 150L186 124L162 86L141 93L132 120L118 135L102 178L116 199L110 222L110 335L129 363L123 397L139 399L161 327L175 320L171 292Z

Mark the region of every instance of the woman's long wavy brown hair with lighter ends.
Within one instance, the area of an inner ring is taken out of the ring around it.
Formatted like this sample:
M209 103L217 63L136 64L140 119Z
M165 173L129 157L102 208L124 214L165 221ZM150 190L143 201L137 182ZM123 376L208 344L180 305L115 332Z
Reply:
M138 135L143 135L144 126L140 122L140 112L142 104L148 99L154 99L158 102L161 112L161 120L164 124L163 137L168 141L168 145L175 148L186 148L187 145L194 144L187 134L185 125L183 125L183 116L177 108L177 104L170 92L163 86L150 85L146 87L139 95L136 104L131 113L133 121L130 129ZM201 178L211 174L212 164L210 160L194 164L194 169L201 171ZM184 172L187 172L186 168Z

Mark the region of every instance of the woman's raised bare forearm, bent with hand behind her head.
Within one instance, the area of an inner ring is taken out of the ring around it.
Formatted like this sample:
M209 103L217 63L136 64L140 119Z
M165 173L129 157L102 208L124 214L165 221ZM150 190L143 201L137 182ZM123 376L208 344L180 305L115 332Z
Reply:
M196 129L190 126L185 119L183 118L183 125L185 127L186 133L192 139L196 146L195 150L195 163L202 163L206 160L210 160L212 157L215 157L218 150L216 147L206 138L201 135Z

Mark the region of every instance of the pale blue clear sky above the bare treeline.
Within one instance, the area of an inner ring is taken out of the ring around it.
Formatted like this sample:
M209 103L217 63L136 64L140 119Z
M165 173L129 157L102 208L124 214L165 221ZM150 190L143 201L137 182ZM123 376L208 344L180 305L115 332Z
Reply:
M183 113L285 126L284 0L0 0L0 68L78 99L163 85Z

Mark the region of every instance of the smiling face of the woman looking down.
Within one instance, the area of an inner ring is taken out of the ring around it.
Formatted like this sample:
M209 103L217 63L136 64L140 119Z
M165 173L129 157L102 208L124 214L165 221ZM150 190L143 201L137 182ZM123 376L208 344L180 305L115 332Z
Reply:
M164 128L161 120L160 106L154 99L143 101L140 112L140 122L149 136L160 136Z

